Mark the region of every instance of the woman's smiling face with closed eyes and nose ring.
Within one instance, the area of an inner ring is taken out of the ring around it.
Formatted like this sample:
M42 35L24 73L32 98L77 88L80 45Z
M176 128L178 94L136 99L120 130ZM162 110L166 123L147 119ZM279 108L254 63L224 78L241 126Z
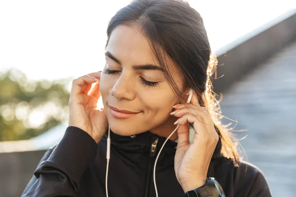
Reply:
M165 80L147 38L137 27L117 26L105 55L100 92L110 129L119 135L133 135L173 125L176 118L169 114L180 100ZM181 89L182 76L177 66L169 66ZM115 108L136 113L127 115Z

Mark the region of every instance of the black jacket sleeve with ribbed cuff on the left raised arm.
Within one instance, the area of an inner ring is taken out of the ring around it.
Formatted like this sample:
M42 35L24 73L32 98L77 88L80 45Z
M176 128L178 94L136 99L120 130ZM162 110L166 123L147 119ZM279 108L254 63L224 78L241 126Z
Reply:
M96 154L97 143L88 133L68 127L60 143L44 154L21 197L75 197Z

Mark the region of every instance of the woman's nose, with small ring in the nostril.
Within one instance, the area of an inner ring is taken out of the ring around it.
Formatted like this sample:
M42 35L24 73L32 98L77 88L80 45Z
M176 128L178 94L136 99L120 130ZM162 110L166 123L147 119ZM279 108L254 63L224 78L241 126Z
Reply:
M116 99L133 100L135 98L135 83L132 78L133 77L128 76L127 73L121 72L121 75L112 88L112 95Z

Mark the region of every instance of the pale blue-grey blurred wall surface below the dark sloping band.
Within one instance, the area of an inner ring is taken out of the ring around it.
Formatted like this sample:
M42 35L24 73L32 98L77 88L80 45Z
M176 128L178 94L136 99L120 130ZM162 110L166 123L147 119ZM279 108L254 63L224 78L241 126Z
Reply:
M239 142L266 175L273 197L296 194L295 73L296 41L231 84L220 103L222 115L237 119L234 130L247 130L233 133L238 139L248 135Z

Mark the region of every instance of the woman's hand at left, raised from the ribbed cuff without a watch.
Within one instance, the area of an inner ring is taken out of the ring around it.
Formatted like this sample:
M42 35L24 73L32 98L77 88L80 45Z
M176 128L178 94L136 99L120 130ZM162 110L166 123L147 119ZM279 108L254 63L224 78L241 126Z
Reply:
M69 99L69 126L87 132L97 143L108 129L105 110L97 109L101 96L101 73L102 71L93 72L74 79ZM96 84L91 89L93 83Z

